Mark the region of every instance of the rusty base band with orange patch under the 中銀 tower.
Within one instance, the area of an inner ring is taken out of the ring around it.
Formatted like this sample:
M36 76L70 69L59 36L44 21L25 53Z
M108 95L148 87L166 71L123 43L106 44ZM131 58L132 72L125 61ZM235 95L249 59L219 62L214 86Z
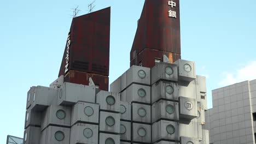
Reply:
M166 55L171 62L175 62L181 59L181 55L177 53L171 53L167 51L159 51L154 49L144 49L136 58L131 59L130 67L132 65L140 65L142 67L153 68L155 66L155 58L162 59L162 56Z

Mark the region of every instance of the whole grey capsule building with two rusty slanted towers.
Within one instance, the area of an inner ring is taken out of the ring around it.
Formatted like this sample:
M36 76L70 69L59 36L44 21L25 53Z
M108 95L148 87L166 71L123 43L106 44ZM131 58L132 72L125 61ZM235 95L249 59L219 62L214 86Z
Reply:
M205 144L206 79L181 59L179 0L146 0L110 84L110 8L75 17L59 78L27 93L25 144Z

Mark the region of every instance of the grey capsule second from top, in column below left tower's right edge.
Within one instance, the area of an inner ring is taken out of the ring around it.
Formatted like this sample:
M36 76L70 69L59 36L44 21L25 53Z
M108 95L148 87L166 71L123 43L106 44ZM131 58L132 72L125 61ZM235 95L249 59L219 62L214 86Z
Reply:
M108 133L120 133L120 114L112 112L100 112L100 131Z

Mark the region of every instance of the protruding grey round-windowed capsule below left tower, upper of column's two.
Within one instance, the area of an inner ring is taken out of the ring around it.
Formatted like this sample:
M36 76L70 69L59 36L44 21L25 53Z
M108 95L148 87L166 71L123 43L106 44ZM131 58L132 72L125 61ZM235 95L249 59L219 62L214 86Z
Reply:
M99 105L78 101L72 107L71 125L75 123L98 124Z

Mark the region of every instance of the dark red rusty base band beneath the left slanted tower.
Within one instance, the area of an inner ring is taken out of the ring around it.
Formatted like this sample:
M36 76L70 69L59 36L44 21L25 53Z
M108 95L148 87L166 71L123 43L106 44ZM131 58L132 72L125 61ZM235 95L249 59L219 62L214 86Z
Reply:
M64 77L64 82L89 85L89 77L95 85L103 91L108 91L108 76L85 73L83 71L69 70Z

